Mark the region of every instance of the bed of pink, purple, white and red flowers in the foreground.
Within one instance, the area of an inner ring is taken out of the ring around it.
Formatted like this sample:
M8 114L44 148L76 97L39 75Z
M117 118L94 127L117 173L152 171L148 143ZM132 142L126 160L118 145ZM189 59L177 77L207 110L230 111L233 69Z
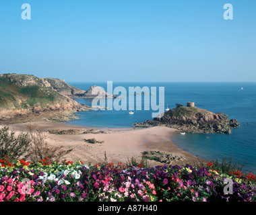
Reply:
M48 159L13 164L6 157L0 161L0 202L255 201L255 175L220 174L212 165L141 168ZM232 179L232 194L224 194L224 179Z

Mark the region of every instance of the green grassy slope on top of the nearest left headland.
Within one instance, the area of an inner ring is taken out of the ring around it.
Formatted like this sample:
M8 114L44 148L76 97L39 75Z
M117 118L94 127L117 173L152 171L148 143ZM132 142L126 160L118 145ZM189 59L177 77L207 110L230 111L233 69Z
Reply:
M19 110L34 106L44 107L60 101L61 97L61 94L46 87L42 80L34 76L0 76L0 108Z

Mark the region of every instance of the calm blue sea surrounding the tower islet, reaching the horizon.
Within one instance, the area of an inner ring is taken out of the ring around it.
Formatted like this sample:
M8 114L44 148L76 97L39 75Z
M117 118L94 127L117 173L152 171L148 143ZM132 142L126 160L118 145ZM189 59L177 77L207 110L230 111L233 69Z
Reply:
M79 89L88 90L91 85L98 85L107 90L106 83L69 83ZM115 87L164 87L164 103L169 108L175 103L187 104L195 101L199 108L211 112L228 114L230 119L237 119L241 126L232 134L174 134L172 142L183 150L202 159L218 159L230 157L239 165L244 165L243 171L256 173L256 83L113 83ZM241 89L243 87L243 90ZM134 110L129 114L129 97L122 95L127 101L127 110L98 110L78 113L79 120L68 124L106 128L129 128L135 122L152 119L152 110ZM158 92L153 95L158 101ZM142 96L143 105L144 95ZM79 103L92 104L92 99L75 99ZM135 103L136 104L136 103ZM143 106L142 106L143 107ZM206 138L210 137L210 138Z

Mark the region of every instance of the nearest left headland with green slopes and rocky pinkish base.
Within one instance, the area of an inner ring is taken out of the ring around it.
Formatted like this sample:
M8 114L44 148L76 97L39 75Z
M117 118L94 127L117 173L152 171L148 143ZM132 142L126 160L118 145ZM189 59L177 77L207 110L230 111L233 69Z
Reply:
M0 121L39 112L90 110L34 75L0 75Z

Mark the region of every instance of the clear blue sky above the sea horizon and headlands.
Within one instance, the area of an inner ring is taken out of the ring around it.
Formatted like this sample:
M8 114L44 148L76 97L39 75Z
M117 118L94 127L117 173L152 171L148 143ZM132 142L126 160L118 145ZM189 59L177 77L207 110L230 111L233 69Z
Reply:
M21 18L30 3L31 20ZM223 18L232 3L233 20ZM256 1L1 0L0 73L256 81Z

